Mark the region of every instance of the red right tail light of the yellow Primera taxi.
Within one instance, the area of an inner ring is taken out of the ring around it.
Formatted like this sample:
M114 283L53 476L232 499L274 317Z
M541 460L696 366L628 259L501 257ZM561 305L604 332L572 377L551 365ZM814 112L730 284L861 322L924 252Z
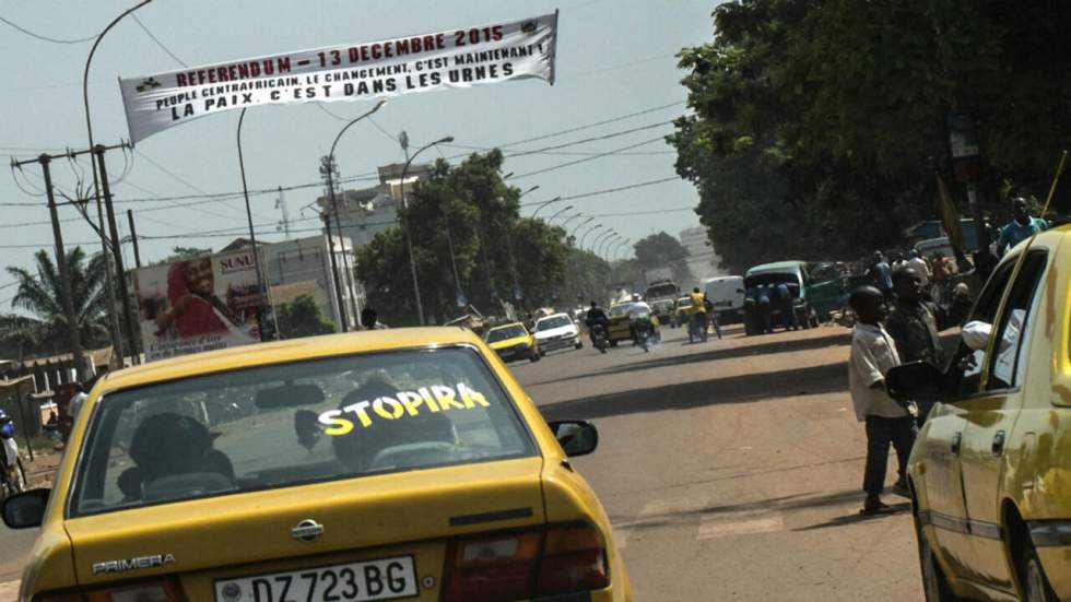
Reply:
M450 542L443 602L506 602L610 585L605 543L589 524L549 526Z

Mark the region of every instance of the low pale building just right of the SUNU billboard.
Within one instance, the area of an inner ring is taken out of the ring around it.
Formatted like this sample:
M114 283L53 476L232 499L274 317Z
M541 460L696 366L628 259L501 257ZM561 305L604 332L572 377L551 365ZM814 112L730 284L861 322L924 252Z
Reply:
M323 234L266 244L263 270L272 303L286 303L299 294L310 293L341 332L343 312L351 330L357 323L364 304L364 290L353 278L354 258L350 240L332 236L331 243L334 244L333 264L328 251L328 236ZM337 280L342 283L342 311L336 293Z

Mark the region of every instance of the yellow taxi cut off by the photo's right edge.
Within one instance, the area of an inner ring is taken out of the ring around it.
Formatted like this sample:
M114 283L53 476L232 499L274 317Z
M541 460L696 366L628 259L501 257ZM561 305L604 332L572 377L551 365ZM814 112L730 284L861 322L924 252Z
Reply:
M909 461L927 600L1071 600L1071 228L998 265L940 370L890 393L938 401Z

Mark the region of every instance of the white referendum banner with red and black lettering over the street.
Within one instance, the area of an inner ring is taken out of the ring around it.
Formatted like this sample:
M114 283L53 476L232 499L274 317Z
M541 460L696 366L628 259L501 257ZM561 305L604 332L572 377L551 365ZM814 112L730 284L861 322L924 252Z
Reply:
M557 13L121 78L130 140L258 105L366 101L534 78L554 83Z

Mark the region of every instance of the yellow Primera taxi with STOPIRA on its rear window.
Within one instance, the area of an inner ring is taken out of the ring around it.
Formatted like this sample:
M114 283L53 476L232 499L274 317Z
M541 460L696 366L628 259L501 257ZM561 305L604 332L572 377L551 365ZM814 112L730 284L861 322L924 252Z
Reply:
M628 601L597 442L466 330L299 339L102 378L2 516L22 602Z

